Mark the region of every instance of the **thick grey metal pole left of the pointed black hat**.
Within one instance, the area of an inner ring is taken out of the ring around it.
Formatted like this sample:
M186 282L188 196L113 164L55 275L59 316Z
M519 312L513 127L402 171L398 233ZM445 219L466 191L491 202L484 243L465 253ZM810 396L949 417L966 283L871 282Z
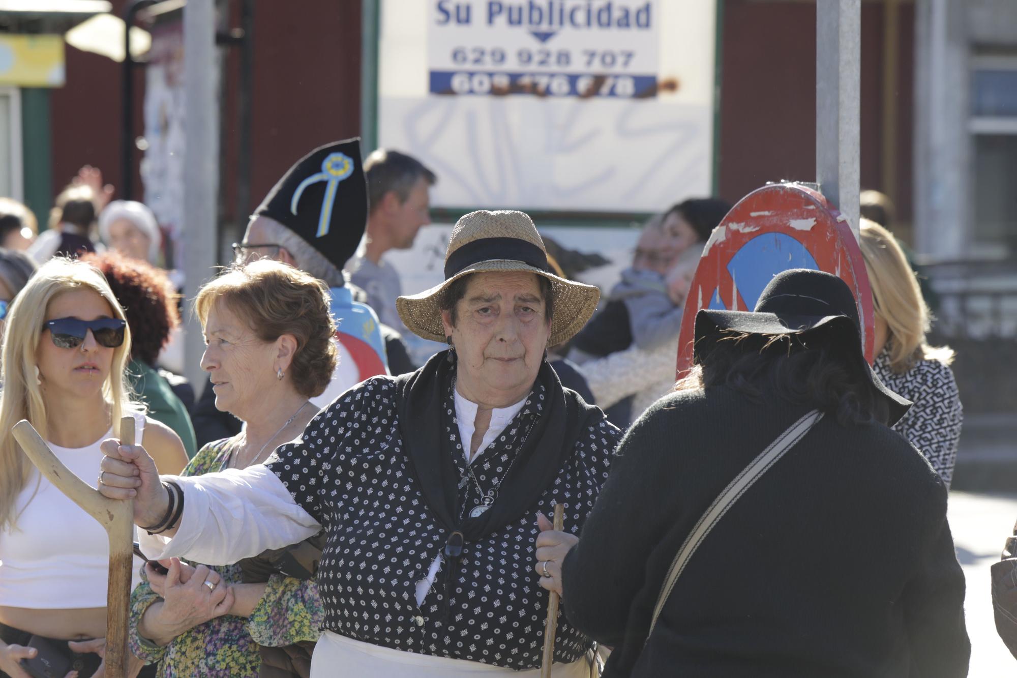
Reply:
M219 192L216 92L216 7L214 0L190 0L184 6L184 273L187 304L214 275L217 264ZM204 342L193 313L187 320L184 374L198 391L204 384ZM195 393L200 396L200 393Z

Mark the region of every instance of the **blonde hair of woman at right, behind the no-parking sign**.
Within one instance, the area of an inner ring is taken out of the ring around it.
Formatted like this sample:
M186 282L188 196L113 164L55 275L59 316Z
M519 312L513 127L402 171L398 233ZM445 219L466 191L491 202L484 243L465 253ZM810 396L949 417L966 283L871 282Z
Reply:
M921 359L950 364L954 358L953 349L933 347L925 342L932 322L929 306L897 239L869 219L861 220L860 230L858 243L873 288L873 306L889 330L887 348L891 369L897 374L904 373Z

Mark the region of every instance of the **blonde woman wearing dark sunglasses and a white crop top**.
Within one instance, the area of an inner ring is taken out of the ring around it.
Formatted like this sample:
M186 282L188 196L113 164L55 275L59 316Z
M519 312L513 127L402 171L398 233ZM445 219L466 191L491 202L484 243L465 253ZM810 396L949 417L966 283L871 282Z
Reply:
M0 394L0 676L32 675L22 662L40 653L51 666L65 662L67 675L92 676L106 630L105 532L40 476L11 427L28 419L93 487L102 483L99 444L118 435L123 415L134 415L160 469L175 473L187 462L177 435L131 401L129 355L123 309L87 264L50 261L10 306Z

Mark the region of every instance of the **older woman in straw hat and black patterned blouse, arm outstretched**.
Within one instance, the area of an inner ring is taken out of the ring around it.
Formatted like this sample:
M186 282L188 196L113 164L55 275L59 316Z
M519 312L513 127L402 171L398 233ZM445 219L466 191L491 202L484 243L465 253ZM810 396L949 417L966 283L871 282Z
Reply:
M545 359L597 289L548 272L521 212L463 217L444 273L398 308L448 350L348 391L263 466L173 478L178 496L142 448L105 444L107 496L134 497L139 524L168 521L171 541L142 538L149 556L230 563L325 530L312 676L537 675L547 598L531 545L555 503L578 533L607 477L618 431ZM587 675L588 645L562 619L554 675Z

